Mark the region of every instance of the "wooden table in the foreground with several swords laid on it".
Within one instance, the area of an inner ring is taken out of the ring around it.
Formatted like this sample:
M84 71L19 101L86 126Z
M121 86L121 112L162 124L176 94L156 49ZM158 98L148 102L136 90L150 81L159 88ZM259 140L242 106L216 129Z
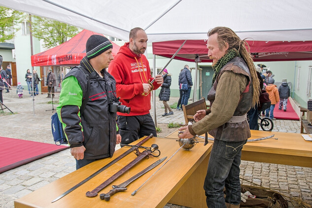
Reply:
M137 142L138 141L133 144ZM180 148L175 139L164 138L151 138L143 145L151 146L153 143L159 145L159 150L161 151L160 157L144 159L137 166L133 167L105 187L99 194L107 193L111 189L111 185L118 185L126 181L160 158L167 156L168 160L173 153ZM122 158L104 172L90 179L62 199L51 203L53 199L67 191L69 188L73 187L75 184L87 178L92 173L95 173L107 163L121 155L127 150L127 148L128 147L123 147L118 149L112 158L93 162L24 196L21 199L15 200L15 208L163 208L168 202L193 208L206 207L203 184L205 179L204 175L206 175L207 172L211 143L206 146L204 146L203 143L198 143L191 150L179 150L162 169L160 169L139 189L135 196L131 196L131 193L139 188L139 186L155 173L167 160L129 184L127 186L127 191L113 195L109 202L100 200L99 196L95 198L88 198L85 196L87 191L93 190L111 175L122 169L126 164L134 160L136 155L130 153L125 158Z

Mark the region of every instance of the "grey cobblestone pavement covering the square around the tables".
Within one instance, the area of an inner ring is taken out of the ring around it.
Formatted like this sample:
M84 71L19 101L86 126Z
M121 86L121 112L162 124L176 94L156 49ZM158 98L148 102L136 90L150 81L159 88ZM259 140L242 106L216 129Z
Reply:
M16 139L34 140L45 143L54 143L51 135L52 104L46 94L38 95L33 100L28 92L18 99L14 90L3 93L3 103L14 114L1 116L0 136ZM56 95L55 100L58 100ZM169 104L177 102L178 98L171 98ZM57 105L54 105L56 108ZM162 117L164 113L162 102L156 98L156 118L158 123L184 123L182 111L173 109L174 114ZM5 112L9 112L7 109ZM153 117L153 109L151 110ZM300 122L291 120L275 120L274 130L279 132L300 133ZM62 158L62 159L60 159ZM14 200L21 198L36 189L47 185L64 175L75 171L75 161L70 150L35 160L15 169L0 173L0 207L13 208ZM256 184L281 189L286 196L295 197L312 204L312 168L285 166L268 163L242 161L241 178ZM249 185L247 181L243 184ZM290 207L294 207L290 204ZM183 208L167 204L165 208Z

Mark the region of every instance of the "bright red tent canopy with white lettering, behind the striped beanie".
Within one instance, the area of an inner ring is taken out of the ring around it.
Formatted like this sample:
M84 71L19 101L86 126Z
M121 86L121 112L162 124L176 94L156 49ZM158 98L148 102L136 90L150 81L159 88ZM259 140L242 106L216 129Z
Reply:
M86 42L91 35L101 35L83 30L65 43L32 56L32 66L76 66L86 56ZM120 46L113 43L113 56Z

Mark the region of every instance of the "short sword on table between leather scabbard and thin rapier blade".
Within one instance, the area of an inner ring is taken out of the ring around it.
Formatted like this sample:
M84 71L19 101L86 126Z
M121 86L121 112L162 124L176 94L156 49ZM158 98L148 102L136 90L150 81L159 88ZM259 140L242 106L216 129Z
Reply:
M150 170L152 170L153 168L155 168L156 166L158 166L159 164L161 164L164 160L167 159L167 156L157 160L155 163L153 163L152 165L148 166L147 168L145 168L143 171L139 172L138 174L132 176L131 178L129 178L128 180L126 180L125 182L119 184L119 185L113 185L113 189L111 189L107 194L100 194L100 199L105 200L105 201L109 201L110 197L120 191L125 191L127 190L126 186L129 185L131 182L133 182L134 180L136 180L137 178L139 178L140 176L142 176L143 174L149 172Z

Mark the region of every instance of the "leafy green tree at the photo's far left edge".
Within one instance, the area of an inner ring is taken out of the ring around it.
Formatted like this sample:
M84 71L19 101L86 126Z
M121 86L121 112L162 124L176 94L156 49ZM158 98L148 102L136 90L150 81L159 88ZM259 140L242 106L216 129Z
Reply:
M15 33L12 28L21 22L23 13L13 9L0 6L0 42L5 42L14 37ZM17 27L15 32L18 31Z

